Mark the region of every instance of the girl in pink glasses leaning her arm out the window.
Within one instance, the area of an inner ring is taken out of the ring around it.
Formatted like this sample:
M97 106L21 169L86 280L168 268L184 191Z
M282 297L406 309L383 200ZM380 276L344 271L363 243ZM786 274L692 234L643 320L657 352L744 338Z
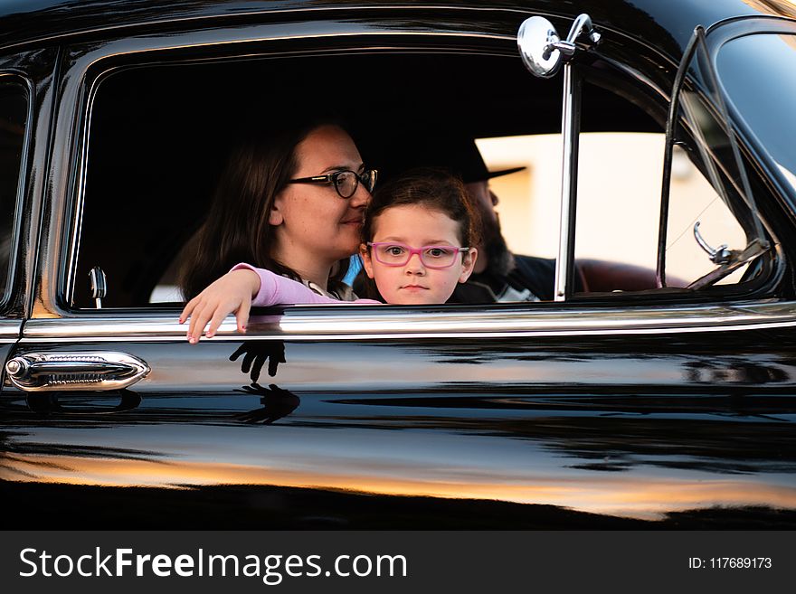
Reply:
M417 169L393 179L374 194L362 230L360 255L386 303L444 303L472 272L478 258L475 212L464 185L441 170ZM239 264L192 299L180 316L191 316L188 340L195 343L204 326L211 337L224 317L235 313L245 331L249 309L295 303L340 304L289 278ZM357 299L348 303L379 303Z

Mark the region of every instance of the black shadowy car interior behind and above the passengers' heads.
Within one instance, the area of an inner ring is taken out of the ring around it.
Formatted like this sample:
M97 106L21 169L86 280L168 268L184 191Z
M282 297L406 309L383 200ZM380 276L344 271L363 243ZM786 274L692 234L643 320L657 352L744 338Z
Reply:
M584 90L584 131L662 131L666 105L659 98L641 86L622 92L628 83L596 66L590 78L597 84ZM401 160L395 147L431 135L556 133L561 101L560 79L536 79L516 57L471 53L292 55L119 69L101 81L90 110L72 304L94 306L95 266L107 275L106 307L147 306L156 284L175 282L175 259L203 222L224 159L253 122L335 114L384 180Z

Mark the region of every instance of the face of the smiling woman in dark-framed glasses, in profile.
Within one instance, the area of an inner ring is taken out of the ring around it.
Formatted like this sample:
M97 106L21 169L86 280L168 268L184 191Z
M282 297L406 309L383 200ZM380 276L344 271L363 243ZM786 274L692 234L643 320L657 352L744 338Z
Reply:
M296 161L294 178L364 169L354 141L336 126L310 132L296 147ZM270 211L269 222L275 228L272 257L310 276L318 265L328 268L347 258L359 245L369 202L370 193L363 184L350 198L341 198L332 184L288 184Z

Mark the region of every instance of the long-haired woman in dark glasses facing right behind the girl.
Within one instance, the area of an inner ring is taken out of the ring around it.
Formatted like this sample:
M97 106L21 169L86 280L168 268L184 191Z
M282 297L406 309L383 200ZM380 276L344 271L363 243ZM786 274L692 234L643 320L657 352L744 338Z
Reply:
M354 299L340 279L359 246L374 184L375 172L365 169L352 138L328 120L270 129L245 143L223 172L185 269L185 297L201 292L194 319L204 311L210 320L231 298L213 280L238 262L294 278L320 295Z

